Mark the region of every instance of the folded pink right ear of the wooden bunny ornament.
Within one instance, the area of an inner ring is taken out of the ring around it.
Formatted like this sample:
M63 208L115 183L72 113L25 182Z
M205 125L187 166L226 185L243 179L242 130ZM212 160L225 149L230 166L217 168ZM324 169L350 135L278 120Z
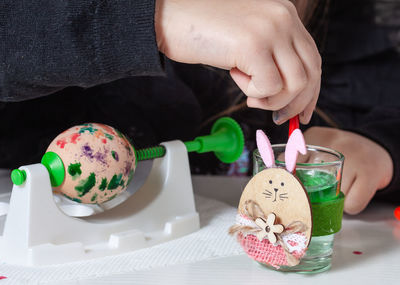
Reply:
M306 154L307 149L302 132L299 129L295 129L289 137L285 149L285 164L289 172L293 172L296 167L298 152Z

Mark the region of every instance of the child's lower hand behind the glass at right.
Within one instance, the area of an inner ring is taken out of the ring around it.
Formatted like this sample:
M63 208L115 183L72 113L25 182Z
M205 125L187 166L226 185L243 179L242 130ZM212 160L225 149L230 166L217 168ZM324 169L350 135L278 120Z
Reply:
M393 161L377 143L355 133L333 128L312 127L305 133L307 144L332 148L345 156L342 192L346 194L344 210L361 212L375 192L389 185Z

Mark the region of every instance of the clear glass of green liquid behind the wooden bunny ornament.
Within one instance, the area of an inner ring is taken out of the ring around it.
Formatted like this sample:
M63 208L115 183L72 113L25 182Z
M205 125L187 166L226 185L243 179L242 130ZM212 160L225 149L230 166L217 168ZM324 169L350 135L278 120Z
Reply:
M285 167L285 147L286 144L272 145L277 167ZM334 234L340 230L343 214L344 195L340 192L343 162L343 154L320 146L307 145L307 154L299 154L296 176L310 198L313 212L312 237L300 263L292 267L281 266L279 271L318 273L331 267ZM263 169L264 162L258 150L255 150L253 175Z

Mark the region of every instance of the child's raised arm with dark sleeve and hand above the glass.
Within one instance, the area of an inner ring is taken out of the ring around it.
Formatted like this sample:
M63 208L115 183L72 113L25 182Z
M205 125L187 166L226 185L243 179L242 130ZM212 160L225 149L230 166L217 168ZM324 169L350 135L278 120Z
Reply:
M278 124L308 123L318 98L321 57L287 0L6 0L0 11L3 101L162 75L158 49L230 70Z

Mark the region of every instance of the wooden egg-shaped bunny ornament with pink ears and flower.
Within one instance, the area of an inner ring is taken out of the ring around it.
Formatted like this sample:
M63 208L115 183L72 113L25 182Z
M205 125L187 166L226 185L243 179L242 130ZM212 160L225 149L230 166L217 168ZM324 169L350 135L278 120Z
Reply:
M298 152L306 146L299 129L293 131L285 149L285 168L275 166L267 136L257 131L257 147L266 169L246 185L240 198L236 224L230 228L247 255L279 269L295 266L311 240L312 212L307 192L292 174Z

